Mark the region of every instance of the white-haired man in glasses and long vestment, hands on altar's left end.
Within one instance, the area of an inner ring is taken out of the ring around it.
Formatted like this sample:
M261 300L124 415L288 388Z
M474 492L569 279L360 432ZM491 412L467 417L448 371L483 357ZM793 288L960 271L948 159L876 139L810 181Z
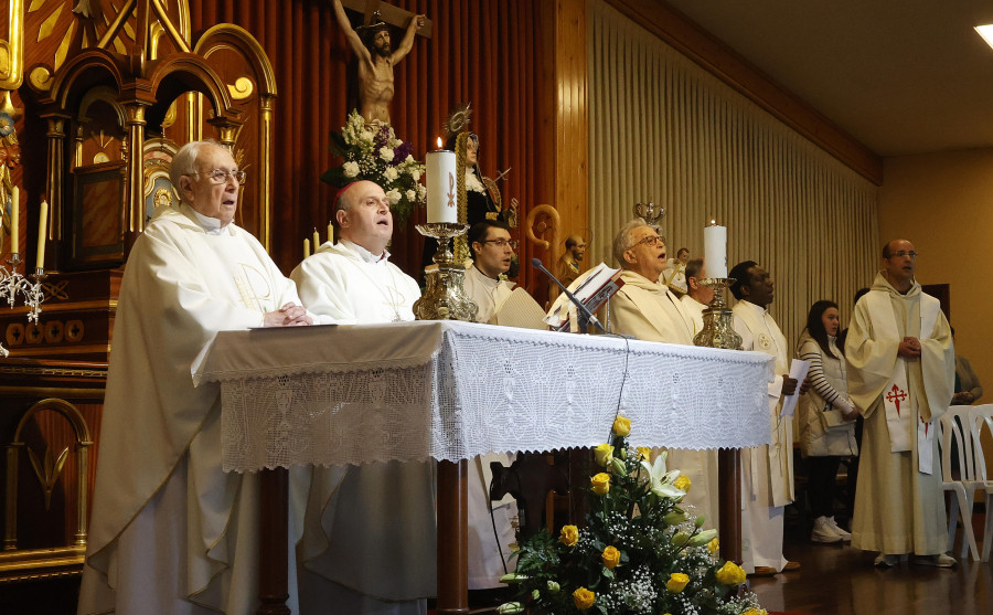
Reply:
M217 331L311 324L292 282L235 225L231 152L192 142L120 286L79 613L255 613L258 477L221 469L216 385L193 386ZM296 611L295 589L290 605Z

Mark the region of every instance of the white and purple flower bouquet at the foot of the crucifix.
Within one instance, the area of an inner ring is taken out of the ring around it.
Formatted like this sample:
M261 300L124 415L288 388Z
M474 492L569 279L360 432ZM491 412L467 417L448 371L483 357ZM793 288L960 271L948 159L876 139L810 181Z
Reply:
M424 165L414 159L414 146L396 137L386 123L366 124L353 110L341 132L331 132L331 151L343 160L341 167L324 171L321 181L344 188L353 181L380 184L389 200L397 224L403 226L427 190L420 183Z

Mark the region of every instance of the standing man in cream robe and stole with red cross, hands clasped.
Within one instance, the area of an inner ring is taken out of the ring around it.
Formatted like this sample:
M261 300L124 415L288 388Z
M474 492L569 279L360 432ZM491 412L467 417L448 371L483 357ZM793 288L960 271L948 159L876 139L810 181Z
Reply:
M938 299L914 278L914 244L883 248L883 269L855 305L845 339L848 394L865 416L852 547L876 565L951 566L937 423L955 379L951 329ZM987 515L990 511L986 512Z

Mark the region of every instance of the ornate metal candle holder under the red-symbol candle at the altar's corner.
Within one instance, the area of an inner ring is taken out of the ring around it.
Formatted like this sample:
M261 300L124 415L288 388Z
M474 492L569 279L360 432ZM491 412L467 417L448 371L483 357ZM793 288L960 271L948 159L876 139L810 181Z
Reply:
M424 295L414 303L414 316L417 320L466 320L476 322L479 307L466 296L462 280L466 267L457 263L451 253L449 242L452 237L465 235L468 224L451 222L429 222L418 224L417 232L426 237L438 240L438 251L431 258L438 267L425 271Z

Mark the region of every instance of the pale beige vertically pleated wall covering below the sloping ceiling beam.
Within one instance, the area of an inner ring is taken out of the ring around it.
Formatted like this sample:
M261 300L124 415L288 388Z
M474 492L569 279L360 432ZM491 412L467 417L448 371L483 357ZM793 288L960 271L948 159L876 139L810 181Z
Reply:
M612 263L652 201L673 256L702 256L711 220L728 227L728 265L771 272L791 343L815 300L847 320L876 266L876 185L612 7L589 4L589 36L590 263Z

